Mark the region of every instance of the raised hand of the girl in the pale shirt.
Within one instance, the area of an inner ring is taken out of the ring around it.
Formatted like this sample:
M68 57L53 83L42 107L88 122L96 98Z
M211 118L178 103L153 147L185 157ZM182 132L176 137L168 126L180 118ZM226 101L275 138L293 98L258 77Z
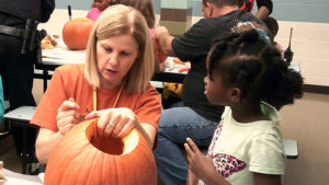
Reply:
M212 159L203 155L192 139L186 138L186 141L188 143L184 143L184 147L188 154L189 170L201 180L206 180L209 174L214 174L214 171L216 173Z

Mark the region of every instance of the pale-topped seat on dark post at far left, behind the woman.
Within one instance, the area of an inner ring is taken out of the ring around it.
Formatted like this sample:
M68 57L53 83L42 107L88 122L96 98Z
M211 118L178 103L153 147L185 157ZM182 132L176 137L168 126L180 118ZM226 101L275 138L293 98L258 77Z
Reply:
M23 174L26 174L27 163L34 162L31 161L33 157L31 155L32 153L27 152L25 141L26 141L26 129L27 128L37 129L36 126L29 124L35 113L35 108L36 108L35 106L20 106L16 109L8 112L7 114L3 115L3 120L8 122L9 125L15 125L22 127L23 129L22 153L21 153Z

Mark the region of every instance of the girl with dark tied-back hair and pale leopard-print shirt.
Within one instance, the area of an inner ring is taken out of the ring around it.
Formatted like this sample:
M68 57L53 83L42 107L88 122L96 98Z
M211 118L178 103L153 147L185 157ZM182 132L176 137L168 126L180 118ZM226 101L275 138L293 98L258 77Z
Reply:
M279 108L303 95L303 79L256 30L231 34L213 45L205 95L226 105L204 157L188 138L188 184L281 185L285 153ZM266 102L266 103L265 103Z

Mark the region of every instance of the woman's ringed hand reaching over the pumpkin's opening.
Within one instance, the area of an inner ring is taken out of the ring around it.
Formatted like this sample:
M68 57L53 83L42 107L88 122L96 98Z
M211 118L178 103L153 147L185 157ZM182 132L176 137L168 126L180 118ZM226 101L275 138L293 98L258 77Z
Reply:
M124 137L138 124L137 116L129 108L109 108L95 111L86 116L86 119L99 117L98 134L104 137Z

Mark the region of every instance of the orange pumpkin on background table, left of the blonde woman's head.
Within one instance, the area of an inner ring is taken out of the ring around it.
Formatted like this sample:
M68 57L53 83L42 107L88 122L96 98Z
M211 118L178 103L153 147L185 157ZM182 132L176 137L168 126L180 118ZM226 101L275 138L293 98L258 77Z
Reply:
M78 18L65 23L63 41L71 50L86 49L90 31L94 22L88 18Z

